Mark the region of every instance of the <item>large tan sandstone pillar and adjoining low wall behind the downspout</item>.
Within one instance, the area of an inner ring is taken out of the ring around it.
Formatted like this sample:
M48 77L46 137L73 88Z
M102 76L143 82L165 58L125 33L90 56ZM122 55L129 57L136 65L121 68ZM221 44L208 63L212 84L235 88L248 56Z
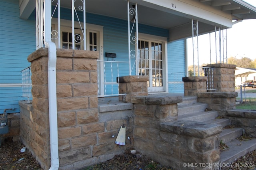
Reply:
M131 111L119 119L110 118L105 111L98 112L98 56L93 51L57 49L59 170L78 170L97 164L126 148L114 144L116 138L112 136L117 135L123 124L131 131ZM28 61L32 71L33 109L21 113L21 137L46 170L50 167L48 49L40 48Z

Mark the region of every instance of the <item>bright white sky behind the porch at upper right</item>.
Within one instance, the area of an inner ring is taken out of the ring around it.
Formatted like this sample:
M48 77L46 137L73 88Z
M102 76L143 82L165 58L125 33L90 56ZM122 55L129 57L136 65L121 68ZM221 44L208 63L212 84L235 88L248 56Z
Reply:
M244 0L249 4L256 7L256 0ZM200 26L198 26L200 29ZM225 31L224 31L225 33ZM211 34L211 56L210 56L210 36L205 34L198 37L198 51L199 51L199 65L210 64L210 58L212 63L216 61L215 54L215 34ZM194 40L196 41L196 40ZM248 57L251 60L256 59L256 19L243 20L227 29L227 55L226 51L224 56L236 57L238 59L242 57ZM193 51L192 51L192 38L188 39L188 65L193 65ZM223 52L222 52L223 53ZM194 53L195 65L197 65L197 53ZM219 61L219 55L217 60ZM222 58L223 60L223 58ZM226 63L226 60L225 60Z

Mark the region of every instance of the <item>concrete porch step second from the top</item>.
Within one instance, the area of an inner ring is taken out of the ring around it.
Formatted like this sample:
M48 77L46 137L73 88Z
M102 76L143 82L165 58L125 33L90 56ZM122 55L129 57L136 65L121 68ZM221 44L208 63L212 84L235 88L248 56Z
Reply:
M206 103L186 103L178 105L178 115L201 112L207 108Z

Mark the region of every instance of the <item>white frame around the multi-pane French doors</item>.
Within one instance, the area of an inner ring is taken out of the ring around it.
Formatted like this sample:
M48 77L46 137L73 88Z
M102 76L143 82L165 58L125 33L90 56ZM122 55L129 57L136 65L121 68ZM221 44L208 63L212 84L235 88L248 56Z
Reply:
M161 36L154 36L150 34L143 34L139 33L138 34L138 39L142 41L149 41L149 42L157 42L162 44L162 69L163 69L163 86L162 87L149 87L148 88L148 93L153 94L153 93L159 93L159 92L168 92L168 68L167 68L167 38L166 37L161 37ZM138 49L137 49L138 51ZM137 56L138 57L138 56ZM151 66L151 64L150 64ZM152 68L152 66L151 66ZM136 63L136 72L138 72L138 63ZM152 80L150 78L150 80ZM152 82L151 82L152 84Z

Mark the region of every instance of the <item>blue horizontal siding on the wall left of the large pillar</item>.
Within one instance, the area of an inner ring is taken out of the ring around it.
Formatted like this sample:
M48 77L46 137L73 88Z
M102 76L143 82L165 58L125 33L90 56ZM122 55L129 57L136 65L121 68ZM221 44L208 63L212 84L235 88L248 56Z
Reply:
M35 21L19 18L18 0L0 1L0 83L21 84L21 70L30 66L28 55L36 50ZM0 88L0 113L15 108L22 98L22 87Z

